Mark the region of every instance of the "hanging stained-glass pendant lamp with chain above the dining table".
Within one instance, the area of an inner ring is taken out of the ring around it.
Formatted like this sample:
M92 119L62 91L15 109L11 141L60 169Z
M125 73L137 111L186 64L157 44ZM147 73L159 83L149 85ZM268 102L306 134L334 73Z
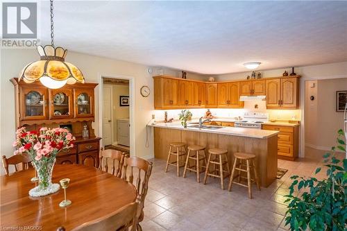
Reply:
M51 0L51 45L37 46L40 60L31 62L22 70L19 81L33 83L40 80L42 85L57 89L67 84L85 83L85 78L76 66L65 62L67 49L54 46L53 0Z

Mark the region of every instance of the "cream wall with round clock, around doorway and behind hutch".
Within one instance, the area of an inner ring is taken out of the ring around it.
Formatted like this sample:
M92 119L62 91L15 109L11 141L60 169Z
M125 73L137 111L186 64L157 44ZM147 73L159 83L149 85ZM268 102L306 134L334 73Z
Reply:
M39 60L40 57L35 49L1 49L1 155L12 155L12 142L15 139L15 89L10 83L10 78L17 77L19 72L28 63ZM102 74L121 74L135 77L135 155L139 157L149 157L153 155L153 144L150 142L148 148L145 147L146 124L151 119L154 110L153 106L153 80L151 74L147 72L148 67L132 62L112 60L94 55L69 52L66 58L79 67L85 76L86 82L98 83ZM174 74L180 76L180 71L164 69L164 74ZM157 75L153 68L153 74ZM198 74L187 74L187 78L199 78ZM139 89L142 85L148 85L151 95L144 98L140 95ZM95 123L93 123L96 135L99 134L99 86L95 89ZM151 134L150 134L151 137Z

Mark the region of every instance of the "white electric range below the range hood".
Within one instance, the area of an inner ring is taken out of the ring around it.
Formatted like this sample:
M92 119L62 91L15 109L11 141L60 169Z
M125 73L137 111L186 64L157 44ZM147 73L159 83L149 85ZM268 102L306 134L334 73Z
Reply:
M267 112L245 112L242 121L235 121L235 127L262 129L262 123L267 121L269 121Z

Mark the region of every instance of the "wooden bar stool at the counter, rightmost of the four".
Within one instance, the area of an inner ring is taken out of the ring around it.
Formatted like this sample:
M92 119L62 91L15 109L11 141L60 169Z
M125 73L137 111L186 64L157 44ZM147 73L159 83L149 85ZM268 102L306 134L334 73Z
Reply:
M255 182L257 184L257 188L260 190L260 183L259 178L257 176L257 169L255 168L255 155L249 154L249 153L235 153L235 162L232 166L231 176L230 176L230 182L229 182L229 188L228 190L231 191L232 184L241 185L243 187L248 188L248 197L252 198L252 182ZM239 164L237 164L237 160L239 160ZM242 161L246 161L246 164L242 164ZM243 169L242 167L246 166L246 169ZM254 178L251 178L251 169L254 171ZM239 171L239 174L234 177L235 170ZM247 173L247 177L242 176L242 172ZM235 182L234 179L238 178L238 182ZM247 185L242 184L241 178L247 179Z

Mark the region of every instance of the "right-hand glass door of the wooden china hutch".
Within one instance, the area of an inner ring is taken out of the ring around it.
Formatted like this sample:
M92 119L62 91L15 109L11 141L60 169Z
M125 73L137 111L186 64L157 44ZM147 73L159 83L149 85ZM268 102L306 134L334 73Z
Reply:
M75 89L75 117L94 116L94 90Z

